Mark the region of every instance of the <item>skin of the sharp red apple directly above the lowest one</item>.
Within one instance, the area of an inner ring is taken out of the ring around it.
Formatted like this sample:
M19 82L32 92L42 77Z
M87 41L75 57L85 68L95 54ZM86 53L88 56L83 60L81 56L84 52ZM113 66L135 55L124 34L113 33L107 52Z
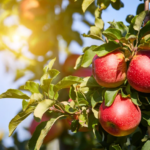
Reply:
M103 57L96 55L93 59L92 69L95 80L103 87L118 87L126 79L127 65L123 53L119 50Z

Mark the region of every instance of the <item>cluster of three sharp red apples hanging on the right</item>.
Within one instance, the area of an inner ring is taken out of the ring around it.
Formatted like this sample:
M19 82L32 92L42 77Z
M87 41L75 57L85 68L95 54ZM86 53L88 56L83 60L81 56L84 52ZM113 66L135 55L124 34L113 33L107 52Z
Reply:
M135 90L150 93L150 51L137 52L128 68L125 56L119 50L103 57L95 56L92 65L93 76L102 87L116 88L127 79ZM99 121L108 133L125 136L131 134L139 125L141 111L130 97L123 98L121 94L117 94L111 106L105 106L105 102L101 104Z

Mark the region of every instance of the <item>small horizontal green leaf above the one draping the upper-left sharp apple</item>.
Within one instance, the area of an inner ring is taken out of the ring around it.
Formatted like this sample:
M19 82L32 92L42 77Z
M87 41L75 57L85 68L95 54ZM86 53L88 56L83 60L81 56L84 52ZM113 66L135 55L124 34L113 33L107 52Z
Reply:
M108 28L105 31L103 31L103 34L110 40L116 40L121 39L121 31L118 29Z

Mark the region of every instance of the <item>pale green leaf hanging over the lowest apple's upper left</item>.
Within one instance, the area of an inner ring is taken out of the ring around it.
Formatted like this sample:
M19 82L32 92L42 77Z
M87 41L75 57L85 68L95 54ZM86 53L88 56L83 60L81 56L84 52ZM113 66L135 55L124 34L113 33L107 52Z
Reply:
M105 95L104 95L105 106L109 107L112 105L119 90L120 90L120 88L114 88L114 89L107 89L105 91Z

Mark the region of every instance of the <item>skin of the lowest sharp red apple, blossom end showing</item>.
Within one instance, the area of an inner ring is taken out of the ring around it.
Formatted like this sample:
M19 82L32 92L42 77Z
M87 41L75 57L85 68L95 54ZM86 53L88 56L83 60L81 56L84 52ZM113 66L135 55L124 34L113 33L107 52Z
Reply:
M131 134L141 121L141 110L129 98L118 94L110 107L104 102L99 108L99 121L105 131L113 136Z

